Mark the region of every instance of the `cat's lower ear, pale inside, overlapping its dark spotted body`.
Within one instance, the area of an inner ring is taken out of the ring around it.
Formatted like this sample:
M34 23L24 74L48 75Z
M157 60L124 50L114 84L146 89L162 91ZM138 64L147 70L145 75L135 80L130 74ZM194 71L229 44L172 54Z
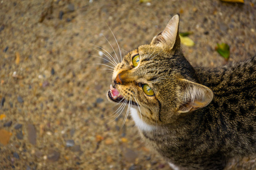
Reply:
M208 87L189 80L181 80L182 104L179 113L187 113L206 107L213 99L213 92Z

